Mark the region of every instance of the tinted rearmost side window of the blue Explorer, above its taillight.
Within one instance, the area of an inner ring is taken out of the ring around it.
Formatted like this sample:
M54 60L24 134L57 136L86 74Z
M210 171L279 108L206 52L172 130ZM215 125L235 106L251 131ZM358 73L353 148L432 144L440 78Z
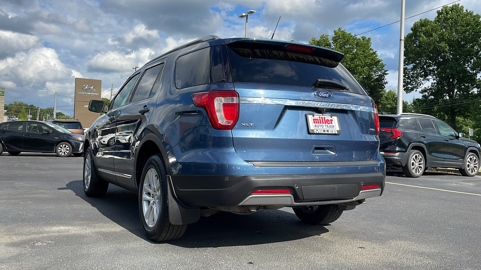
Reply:
M176 87L186 88L226 81L222 46L193 51L176 61Z

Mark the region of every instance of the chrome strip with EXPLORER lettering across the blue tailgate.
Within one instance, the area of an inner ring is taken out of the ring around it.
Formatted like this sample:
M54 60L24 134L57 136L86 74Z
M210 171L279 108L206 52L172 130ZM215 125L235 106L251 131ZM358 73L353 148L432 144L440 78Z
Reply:
M284 99L284 98L239 98L239 103L269 104L269 105L284 105L284 106L299 106L299 107L314 107L314 108L329 108L329 109L359 110L359 111L374 112L374 108L367 107L367 106L334 103L334 102L312 101L312 100Z

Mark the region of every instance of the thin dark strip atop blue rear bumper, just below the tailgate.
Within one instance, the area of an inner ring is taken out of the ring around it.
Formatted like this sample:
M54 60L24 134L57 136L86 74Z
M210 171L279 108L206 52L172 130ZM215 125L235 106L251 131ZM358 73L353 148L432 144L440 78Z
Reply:
M360 161L247 161L255 167L358 167L379 166L376 160Z

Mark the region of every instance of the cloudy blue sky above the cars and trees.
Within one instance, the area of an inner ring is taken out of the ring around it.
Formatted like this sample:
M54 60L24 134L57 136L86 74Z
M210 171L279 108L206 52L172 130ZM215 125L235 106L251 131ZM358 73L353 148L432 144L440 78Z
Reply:
M455 0L406 0L406 17ZM481 13L479 0L460 0ZM307 43L342 27L353 34L399 20L401 0L0 0L0 87L5 101L53 107L73 115L76 77L102 80L110 97L155 56L208 35ZM406 20L405 31L431 11ZM397 88L399 23L364 34L389 70L387 89ZM418 93L404 95L410 100ZM8 112L7 112L8 114Z

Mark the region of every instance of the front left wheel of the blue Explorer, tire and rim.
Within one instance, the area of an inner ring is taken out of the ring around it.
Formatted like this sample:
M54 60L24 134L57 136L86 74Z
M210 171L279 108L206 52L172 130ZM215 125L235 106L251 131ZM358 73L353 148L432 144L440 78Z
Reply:
M85 195L89 197L101 197L107 193L109 182L97 176L95 164L93 163L92 150L87 149L84 156L83 186ZM90 176L90 178L88 178Z

